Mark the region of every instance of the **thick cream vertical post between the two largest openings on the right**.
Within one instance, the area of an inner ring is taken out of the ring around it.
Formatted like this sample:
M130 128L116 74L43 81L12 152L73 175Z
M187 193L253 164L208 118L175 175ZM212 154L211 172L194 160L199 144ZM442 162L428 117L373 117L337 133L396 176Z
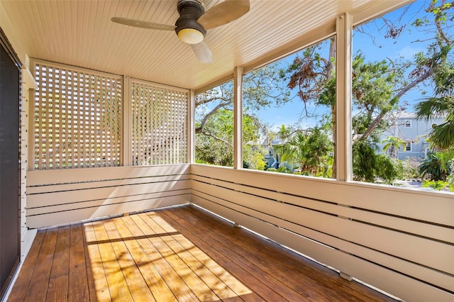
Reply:
M351 181L352 156L352 16L336 20L336 169L338 181Z

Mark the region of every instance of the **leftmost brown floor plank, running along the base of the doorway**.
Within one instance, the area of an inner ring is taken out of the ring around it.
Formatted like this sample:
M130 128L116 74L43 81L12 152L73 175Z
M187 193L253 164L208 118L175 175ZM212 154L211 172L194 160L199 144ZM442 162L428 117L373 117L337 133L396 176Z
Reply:
M8 297L8 301L16 302L23 301L28 289L28 285L31 282L33 271L38 262L39 252L41 245L45 237L45 232L38 232L35 236L35 240L30 247L30 251L26 257L26 261L23 262L21 271L18 274L16 282L13 285L13 289Z

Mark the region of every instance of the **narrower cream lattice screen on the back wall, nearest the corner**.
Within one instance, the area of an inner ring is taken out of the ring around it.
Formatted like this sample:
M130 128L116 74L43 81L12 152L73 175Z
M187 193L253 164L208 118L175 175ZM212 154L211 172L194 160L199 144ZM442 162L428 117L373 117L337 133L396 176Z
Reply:
M188 91L131 84L133 165L187 162Z

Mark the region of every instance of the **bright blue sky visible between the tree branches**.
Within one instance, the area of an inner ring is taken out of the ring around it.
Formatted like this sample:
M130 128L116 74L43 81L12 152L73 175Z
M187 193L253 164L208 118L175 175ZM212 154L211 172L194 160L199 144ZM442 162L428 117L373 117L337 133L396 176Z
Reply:
M363 54L366 55L366 59L370 61L380 61L380 60L397 60L399 57L403 57L405 59L411 59L417 52L421 52L425 49L426 45L431 41L426 42L415 42L416 40L425 40L428 38L424 36L424 33L411 26L411 23L414 21L415 18L423 16L425 12L421 10L421 7L426 7L428 5L427 1L415 1L414 4L411 4L409 9L404 14L404 18L402 18L402 23L406 24L406 27L402 31L402 35L399 36L397 40L392 40L389 38L384 38L382 35L377 33L377 28L380 27L380 23L382 21L372 21L362 25L362 30L367 32L360 33L358 30L355 30L353 36L353 55L358 50L361 50ZM402 16L402 13L407 9L403 7L398 9L397 11L393 11L392 13L388 13L384 17L397 21L399 17ZM369 35L370 34L370 35ZM372 41L371 36L374 37L375 40ZM293 56L288 57L287 60L292 60ZM296 94L296 91L292 91L292 94ZM431 94L428 91L428 94ZM406 111L414 111L413 104L421 99L421 92L414 89L413 91L406 94L401 100L408 101L411 106L407 106ZM314 111L321 115L323 113L328 113L328 108L320 107L314 108L313 106L308 107L309 110ZM301 100L298 97L295 97L293 101L281 106L279 108L267 108L263 111L259 112L259 116L262 118L263 121L269 123L272 126L272 129L279 127L280 125L292 125L297 123L301 116L301 111L303 109L303 105ZM316 120L311 119L309 121L305 121L304 125L314 125Z

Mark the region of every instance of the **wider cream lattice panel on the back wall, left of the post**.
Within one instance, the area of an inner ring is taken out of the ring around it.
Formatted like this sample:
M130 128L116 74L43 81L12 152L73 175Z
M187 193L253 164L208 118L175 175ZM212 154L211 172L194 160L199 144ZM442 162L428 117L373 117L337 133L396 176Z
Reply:
M35 169L120 164L121 77L35 65Z

